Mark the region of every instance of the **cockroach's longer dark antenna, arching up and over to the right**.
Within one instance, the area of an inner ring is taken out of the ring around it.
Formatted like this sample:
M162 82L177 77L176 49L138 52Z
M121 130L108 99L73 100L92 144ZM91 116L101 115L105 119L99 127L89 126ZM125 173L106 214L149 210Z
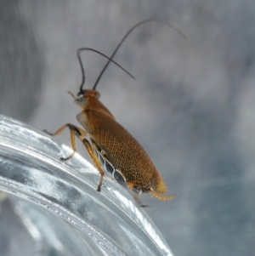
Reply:
M160 22L170 28L172 28L174 31L177 31L178 34L181 36L181 37L184 37L184 39L186 38L184 36L184 33L182 33L181 31L179 31L177 28L175 28L174 26L171 26L171 25L168 25L167 23L163 22L162 20L156 20L156 19L150 19L150 20L143 20L141 22L139 22L138 24L136 24L135 26L133 26L129 31L127 31L127 34L122 38L122 41L117 45L116 49L114 50L114 52L111 54L111 58L110 60L107 61L107 63L105 64L105 67L103 68L103 70L100 72L99 74L99 77L98 79L96 80L96 82L94 83L94 90L95 88L97 87L98 83L99 83L99 80L100 78L103 76L107 66L110 64L111 60L113 59L113 57L115 56L117 50L122 46L122 43L125 41L125 39L127 38L127 36L135 29L137 28L138 26L141 26L142 24L144 23L147 23L147 22L150 22L150 21L156 21L156 22ZM82 88L81 88L82 89Z

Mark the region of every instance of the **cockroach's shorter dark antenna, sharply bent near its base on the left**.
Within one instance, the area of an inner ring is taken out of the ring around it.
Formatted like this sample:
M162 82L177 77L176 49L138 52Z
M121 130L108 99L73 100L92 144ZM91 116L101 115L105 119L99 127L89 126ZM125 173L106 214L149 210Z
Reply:
M80 92L77 94L78 96L82 95L84 93L84 90L82 89L82 87L85 84L85 70L84 70L84 67L83 67L83 64L82 64L82 57L81 57L81 53L83 51L92 51L92 52L95 52L97 54L100 54L100 55L104 56L108 61L113 62L115 65L120 67L122 69L122 71L125 71L128 76L132 77L135 80L135 77L133 77L127 70L125 70L121 65L117 64L114 60L111 60L111 58L109 58L105 54L102 54L101 52L95 50L94 48L78 48L77 49L77 58L79 60L81 70L82 70L82 83L81 83L81 86L80 86Z

